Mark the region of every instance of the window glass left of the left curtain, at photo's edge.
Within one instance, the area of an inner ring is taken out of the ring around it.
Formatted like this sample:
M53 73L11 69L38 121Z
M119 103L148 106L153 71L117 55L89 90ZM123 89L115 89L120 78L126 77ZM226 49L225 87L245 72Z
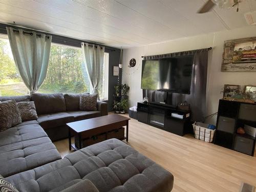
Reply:
M0 96L26 94L28 89L16 68L8 36L0 34Z

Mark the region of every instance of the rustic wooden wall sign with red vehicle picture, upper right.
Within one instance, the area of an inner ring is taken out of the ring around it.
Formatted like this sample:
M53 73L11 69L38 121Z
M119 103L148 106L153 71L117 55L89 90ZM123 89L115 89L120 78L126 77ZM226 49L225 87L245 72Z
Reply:
M224 41L221 71L256 71L256 37Z

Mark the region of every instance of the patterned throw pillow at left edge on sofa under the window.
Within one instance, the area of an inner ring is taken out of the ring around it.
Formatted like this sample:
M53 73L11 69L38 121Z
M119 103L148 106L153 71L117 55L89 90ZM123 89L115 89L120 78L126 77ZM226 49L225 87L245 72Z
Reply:
M0 103L0 132L22 122L15 100Z

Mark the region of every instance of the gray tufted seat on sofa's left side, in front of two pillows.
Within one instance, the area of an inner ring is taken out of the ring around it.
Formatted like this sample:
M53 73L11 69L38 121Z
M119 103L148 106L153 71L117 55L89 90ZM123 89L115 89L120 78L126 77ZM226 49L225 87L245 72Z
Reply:
M11 127L0 133L0 174L7 177L61 159L39 124Z

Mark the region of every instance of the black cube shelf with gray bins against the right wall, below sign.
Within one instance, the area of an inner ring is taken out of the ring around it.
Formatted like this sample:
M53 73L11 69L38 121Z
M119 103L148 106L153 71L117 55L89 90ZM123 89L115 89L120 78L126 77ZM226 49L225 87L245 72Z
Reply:
M237 129L245 125L252 127L250 134L238 134ZM215 144L254 156L256 133L251 133L255 132L255 129L255 103L219 100Z

